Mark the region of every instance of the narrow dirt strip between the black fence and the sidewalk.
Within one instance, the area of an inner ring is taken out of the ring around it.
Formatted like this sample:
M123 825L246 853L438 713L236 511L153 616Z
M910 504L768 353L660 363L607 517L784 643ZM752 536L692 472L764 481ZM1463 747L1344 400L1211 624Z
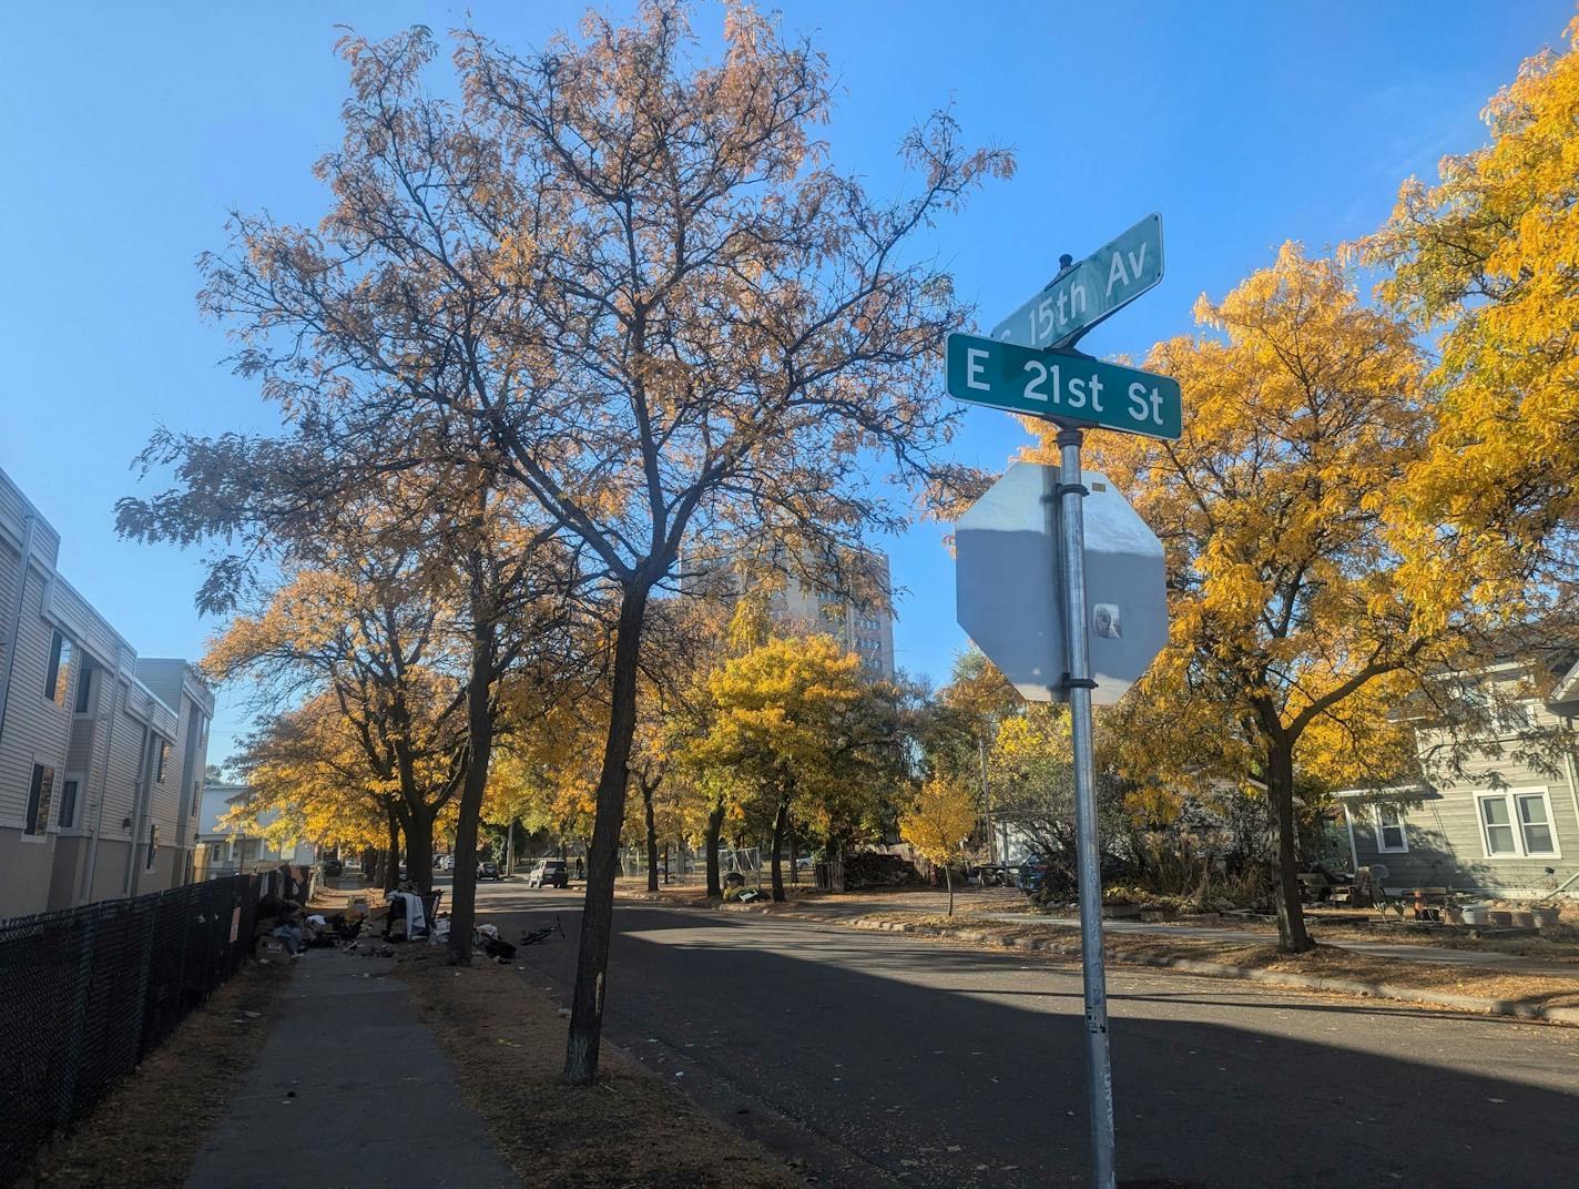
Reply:
M289 966L248 963L39 1157L49 1189L175 1189L246 1080ZM251 1015L248 1012L253 1012Z

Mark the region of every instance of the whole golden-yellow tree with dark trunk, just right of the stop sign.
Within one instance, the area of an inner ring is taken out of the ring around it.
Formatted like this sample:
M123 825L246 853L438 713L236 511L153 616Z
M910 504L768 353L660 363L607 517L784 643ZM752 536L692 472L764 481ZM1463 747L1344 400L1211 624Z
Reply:
M1402 319L1295 245L1221 302L1203 297L1197 319L1208 333L1161 343L1148 363L1184 388L1183 437L1090 442L1168 556L1168 647L1105 730L1137 783L1265 783L1279 947L1304 951L1296 775L1396 761L1407 736L1386 707L1453 651L1440 611L1401 586L1385 523L1431 431L1423 362ZM1041 456L1055 458L1052 434ZM1451 621L1465 624L1462 603Z

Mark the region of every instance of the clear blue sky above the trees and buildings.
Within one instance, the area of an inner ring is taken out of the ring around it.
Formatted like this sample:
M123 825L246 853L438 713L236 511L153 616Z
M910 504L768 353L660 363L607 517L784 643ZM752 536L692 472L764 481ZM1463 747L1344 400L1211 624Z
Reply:
M614 5L625 11L628 5ZM426 24L531 46L584 5L13 3L0 9L0 467L60 529L62 570L144 655L202 654L199 554L120 542L114 502L156 423L268 429L275 412L219 363L196 313L194 257L226 210L314 219L309 166L338 139L336 24ZM951 103L1009 145L993 185L933 246L992 324L1056 268L1162 213L1167 276L1083 344L1143 354L1191 327L1285 238L1320 251L1377 226L1397 183L1483 142L1478 114L1519 62L1560 44L1570 0L1516 5L786 3L845 95L827 139L875 189L894 145ZM703 8L698 28L715 30ZM941 384L941 377L940 377ZM1189 415L1189 393L1186 415ZM963 461L998 469L1025 441L973 409ZM889 542L905 587L902 666L947 676L963 635L943 527ZM210 758L246 726L221 695Z

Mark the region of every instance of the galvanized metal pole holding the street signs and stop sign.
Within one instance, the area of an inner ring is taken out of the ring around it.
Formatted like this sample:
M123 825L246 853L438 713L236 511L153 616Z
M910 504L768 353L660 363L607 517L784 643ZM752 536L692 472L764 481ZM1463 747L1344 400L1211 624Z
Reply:
M1075 761L1075 853L1080 867L1080 966L1085 976L1086 1107L1091 1116L1091 1184L1115 1189L1113 1069L1107 1052L1107 973L1102 965L1102 864L1096 829L1096 764L1091 747L1091 660L1085 605L1086 494L1080 429L1058 431L1058 537L1063 551L1064 622L1069 633L1069 726Z

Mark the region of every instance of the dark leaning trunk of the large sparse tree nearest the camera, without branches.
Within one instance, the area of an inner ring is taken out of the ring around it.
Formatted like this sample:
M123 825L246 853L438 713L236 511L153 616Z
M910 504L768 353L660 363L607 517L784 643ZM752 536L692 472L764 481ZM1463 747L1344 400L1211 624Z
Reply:
M628 587L619 602L608 737L603 744L603 772L597 785L592 845L587 848L587 894L581 910L581 944L576 952L576 987L570 1001L570 1036L565 1041L564 1080L573 1086L589 1085L597 1078L598 1042L603 1036L603 995L608 977L608 941L614 928L614 872L619 867L619 831L625 821L630 744L636 734L636 666L641 658L641 628L646 611L647 587Z

